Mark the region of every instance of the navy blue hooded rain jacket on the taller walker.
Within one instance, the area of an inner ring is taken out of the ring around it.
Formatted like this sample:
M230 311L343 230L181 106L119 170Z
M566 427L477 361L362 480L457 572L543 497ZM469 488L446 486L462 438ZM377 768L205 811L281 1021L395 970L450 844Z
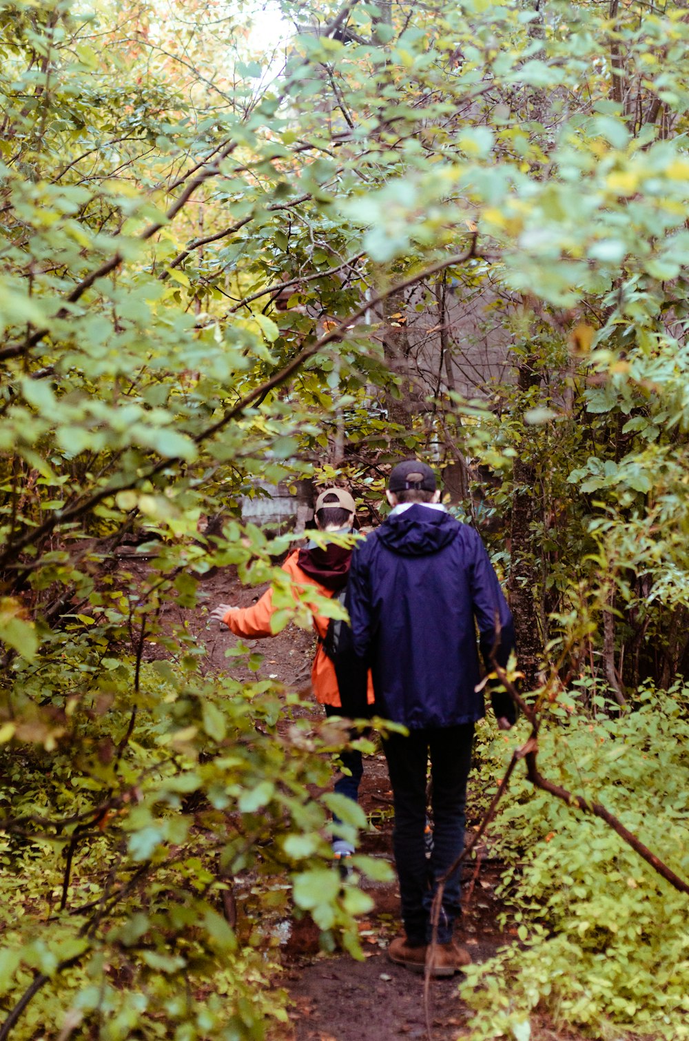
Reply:
M473 528L419 504L392 513L356 547L346 606L350 651L359 675L371 666L379 715L410 730L485 715L483 692L476 690L481 679L476 624L486 664L493 651L500 664L507 663L514 629ZM492 699L495 714L513 720L509 695L494 692ZM343 706L353 705L356 715L359 701L351 685Z

